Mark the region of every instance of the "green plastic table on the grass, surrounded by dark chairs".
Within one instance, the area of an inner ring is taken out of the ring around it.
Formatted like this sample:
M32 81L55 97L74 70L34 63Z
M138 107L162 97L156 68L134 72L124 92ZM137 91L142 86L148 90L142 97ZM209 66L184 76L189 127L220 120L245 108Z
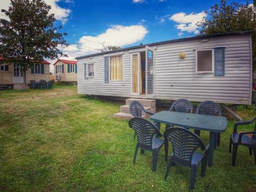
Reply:
M213 115L201 115L193 113L179 113L172 111L161 111L150 117L156 122L160 130L160 123L181 126L187 129L196 129L210 132L210 147L208 166L211 167L214 158L214 143L217 133L226 131L227 119Z

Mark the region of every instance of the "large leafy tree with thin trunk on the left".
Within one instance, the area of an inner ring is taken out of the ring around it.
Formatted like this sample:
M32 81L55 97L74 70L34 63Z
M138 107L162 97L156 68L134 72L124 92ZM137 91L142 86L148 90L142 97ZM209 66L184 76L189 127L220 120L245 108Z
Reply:
M26 71L44 58L56 59L67 56L58 46L68 46L60 27L53 27L54 14L51 6L42 0L11 0L8 10L2 9L10 20L0 19L0 57L2 62L20 66L24 72L24 88L27 86ZM64 33L64 36L67 34Z

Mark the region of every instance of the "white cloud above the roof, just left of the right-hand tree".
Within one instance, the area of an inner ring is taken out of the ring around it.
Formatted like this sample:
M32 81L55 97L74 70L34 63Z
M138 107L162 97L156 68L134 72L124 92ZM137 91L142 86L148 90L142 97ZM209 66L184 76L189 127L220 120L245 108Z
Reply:
M172 15L169 19L173 20L174 22L178 23L179 25L176 25L176 28L181 31L187 31L188 33L194 32L195 34L198 34L198 26L197 23L202 20L203 17L206 17L207 14L202 11L200 13L176 13Z

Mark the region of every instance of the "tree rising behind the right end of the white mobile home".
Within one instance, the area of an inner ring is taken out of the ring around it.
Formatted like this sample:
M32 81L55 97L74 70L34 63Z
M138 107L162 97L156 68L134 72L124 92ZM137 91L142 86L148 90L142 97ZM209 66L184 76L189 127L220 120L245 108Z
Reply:
M208 16L198 23L200 35L256 30L256 8L249 1L227 5L226 0L221 0L220 5L210 7L206 13ZM256 65L256 35L252 36L252 44L253 63Z

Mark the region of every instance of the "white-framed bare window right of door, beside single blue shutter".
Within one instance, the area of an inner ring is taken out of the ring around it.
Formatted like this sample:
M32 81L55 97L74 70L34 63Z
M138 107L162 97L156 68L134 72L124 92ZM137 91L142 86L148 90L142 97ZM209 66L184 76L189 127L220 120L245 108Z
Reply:
M196 72L198 73L214 72L214 50L213 49L196 50Z

